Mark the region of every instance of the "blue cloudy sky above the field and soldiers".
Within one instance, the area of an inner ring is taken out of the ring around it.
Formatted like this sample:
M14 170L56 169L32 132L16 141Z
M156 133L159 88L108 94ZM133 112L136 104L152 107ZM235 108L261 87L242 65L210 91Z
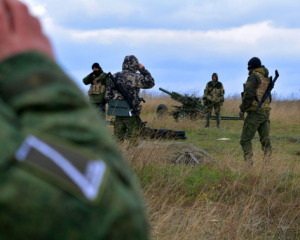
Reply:
M159 87L201 95L213 72L226 94L242 91L247 63L259 57L275 91L300 97L300 1L23 0L42 20L59 64L83 91L99 62L121 70L135 55Z

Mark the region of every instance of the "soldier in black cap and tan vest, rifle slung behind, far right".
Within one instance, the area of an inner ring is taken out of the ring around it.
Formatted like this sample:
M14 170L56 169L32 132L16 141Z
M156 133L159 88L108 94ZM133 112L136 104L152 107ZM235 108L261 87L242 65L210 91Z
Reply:
M249 77L245 84L243 93L242 104L240 105L240 117L244 117L244 113L247 112L245 118L243 132L241 136L240 144L244 151L244 159L249 166L253 165L252 161L252 144L256 131L260 136L260 142L262 150L264 151L265 162L271 156L272 146L269 137L270 133L270 97L264 102L262 107L256 112L258 102L261 101L262 96L267 91L270 83L269 71L267 68L261 65L259 58L251 58L248 62Z

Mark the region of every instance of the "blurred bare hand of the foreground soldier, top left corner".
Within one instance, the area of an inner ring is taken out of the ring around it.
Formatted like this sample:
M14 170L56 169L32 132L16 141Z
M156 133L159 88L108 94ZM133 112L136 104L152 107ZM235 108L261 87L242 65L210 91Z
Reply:
M39 20L29 14L26 5L17 0L0 0L0 61L31 50L54 58Z

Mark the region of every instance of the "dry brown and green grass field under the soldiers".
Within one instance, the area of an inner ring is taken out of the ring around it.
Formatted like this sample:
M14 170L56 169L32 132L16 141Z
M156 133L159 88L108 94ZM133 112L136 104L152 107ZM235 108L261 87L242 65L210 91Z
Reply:
M263 164L258 135L253 142L254 167L249 170L239 145L243 121L205 121L171 117L157 120L158 104L167 97L146 97L142 119L148 126L185 130L187 140L207 151L219 164L171 165L149 152L123 148L143 189L152 239L300 239L300 101L271 104L273 155ZM239 112L240 100L227 99L222 115ZM230 138L218 141L218 138Z

